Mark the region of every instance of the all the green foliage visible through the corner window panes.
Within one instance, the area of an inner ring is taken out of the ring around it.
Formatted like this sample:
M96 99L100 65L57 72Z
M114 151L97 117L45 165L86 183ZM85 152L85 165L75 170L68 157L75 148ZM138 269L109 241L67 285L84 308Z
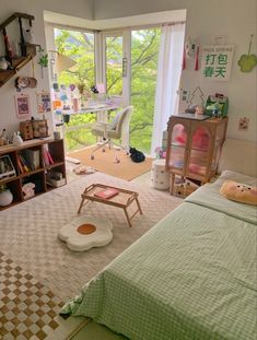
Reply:
M61 72L59 83L95 83L94 36L91 33L56 30L59 52L77 61L71 70ZM159 28L131 32L131 105L130 145L150 152L160 47ZM108 94L122 94L122 37L106 37L106 83ZM95 115L74 115L69 126L93 122ZM68 150L95 143L90 130L80 129L66 133Z

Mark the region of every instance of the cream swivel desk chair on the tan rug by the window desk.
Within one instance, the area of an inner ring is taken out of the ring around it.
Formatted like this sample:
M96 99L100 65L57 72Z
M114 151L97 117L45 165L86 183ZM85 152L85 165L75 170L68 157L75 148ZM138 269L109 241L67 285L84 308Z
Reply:
M113 140L120 140L122 137L122 131L129 131L129 124L132 114L132 106L125 107L121 112L117 113L114 119L110 122L95 122L92 126L92 133L96 137L103 138L103 143L97 145L91 153L91 160L94 160L94 153L102 148L104 152L104 146L108 144L109 149L113 144L121 148L128 149L129 145L121 145L114 143Z

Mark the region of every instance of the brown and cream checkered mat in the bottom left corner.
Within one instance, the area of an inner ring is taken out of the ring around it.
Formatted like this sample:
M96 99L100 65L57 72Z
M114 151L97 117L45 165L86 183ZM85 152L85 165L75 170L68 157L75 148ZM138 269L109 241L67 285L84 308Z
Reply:
M46 339L63 303L0 253L0 339Z

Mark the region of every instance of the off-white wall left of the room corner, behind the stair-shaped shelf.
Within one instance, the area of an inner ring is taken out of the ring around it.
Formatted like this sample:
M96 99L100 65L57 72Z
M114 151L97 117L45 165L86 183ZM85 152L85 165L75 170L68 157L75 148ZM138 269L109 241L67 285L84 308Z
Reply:
M33 22L33 28L35 33L35 42L40 44L45 49L45 33L44 33L44 17L43 11L57 11L63 14L70 14L74 16L81 16L92 19L93 15L93 0L1 0L0 1L0 23L2 23L13 12L28 13L35 16ZM17 24L13 23L8 28L8 35L12 42L12 37L19 35ZM4 55L4 45L2 38L0 39L0 56ZM35 78L37 79L37 89L24 90L24 93L30 95L32 114L34 117L38 117L36 114L36 91L49 90L48 72L44 70L44 78L42 79L40 67L37 65L38 57L34 58ZM32 63L30 62L24 67L17 75L32 77ZM20 120L16 118L14 106L14 79L9 80L2 87L0 87L0 131L7 128L8 132L12 134L17 130ZM51 115L47 114L49 125L51 125Z

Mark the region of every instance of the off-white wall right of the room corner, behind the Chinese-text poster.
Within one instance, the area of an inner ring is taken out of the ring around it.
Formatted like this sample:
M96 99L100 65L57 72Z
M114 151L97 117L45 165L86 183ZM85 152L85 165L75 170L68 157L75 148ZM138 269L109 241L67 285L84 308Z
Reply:
M237 67L242 54L247 54L249 36L255 34L252 54L257 54L257 1L256 0L95 0L94 19L129 16L142 13L187 10L186 37L197 38L200 46L213 45L217 35L235 45L235 55L229 82L208 82L194 71L192 62L183 71L182 86L192 92L200 86L205 95L221 92L230 98L227 136L234 139L257 140L257 67L243 73ZM249 118L247 131L238 130L241 117Z

